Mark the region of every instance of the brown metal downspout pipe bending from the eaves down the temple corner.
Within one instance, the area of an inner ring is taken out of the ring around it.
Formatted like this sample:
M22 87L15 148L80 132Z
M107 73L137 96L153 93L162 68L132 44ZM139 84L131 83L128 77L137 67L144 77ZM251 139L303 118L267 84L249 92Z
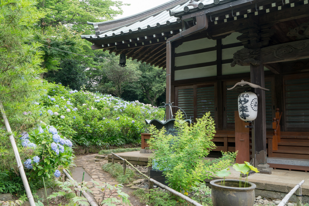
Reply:
M175 36L167 39L166 41L166 103L171 103L171 42L202 32L208 28L208 18L206 16L206 11L197 12L191 15L182 17L184 19L196 18L196 24ZM171 119L170 108L166 108L166 120Z

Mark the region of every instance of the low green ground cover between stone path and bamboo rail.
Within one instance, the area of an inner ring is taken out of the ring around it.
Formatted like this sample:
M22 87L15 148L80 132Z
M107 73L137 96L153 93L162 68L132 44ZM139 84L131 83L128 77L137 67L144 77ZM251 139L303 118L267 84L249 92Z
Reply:
M113 178L116 178L116 180L122 184L133 182L134 178L137 177L135 172L129 168L126 169L125 175L123 175L123 166L120 164L112 164L111 162L104 164L102 170L111 174Z

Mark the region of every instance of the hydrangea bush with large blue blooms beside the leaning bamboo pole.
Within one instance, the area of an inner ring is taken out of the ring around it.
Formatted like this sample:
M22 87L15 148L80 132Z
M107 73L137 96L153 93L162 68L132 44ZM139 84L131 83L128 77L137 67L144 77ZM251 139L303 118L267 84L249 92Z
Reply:
M29 179L41 175L50 177L52 174L59 177L59 168L68 168L73 164L72 142L53 126L43 124L32 132L22 133L20 140L25 149L39 153L24 162Z

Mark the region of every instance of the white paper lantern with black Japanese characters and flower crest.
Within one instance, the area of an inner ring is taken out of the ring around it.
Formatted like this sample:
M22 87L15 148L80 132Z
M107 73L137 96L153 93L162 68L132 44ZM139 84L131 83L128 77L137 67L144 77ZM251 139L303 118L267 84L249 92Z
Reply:
M257 96L253 92L243 92L238 96L238 113L243 121L252 121L257 116Z

